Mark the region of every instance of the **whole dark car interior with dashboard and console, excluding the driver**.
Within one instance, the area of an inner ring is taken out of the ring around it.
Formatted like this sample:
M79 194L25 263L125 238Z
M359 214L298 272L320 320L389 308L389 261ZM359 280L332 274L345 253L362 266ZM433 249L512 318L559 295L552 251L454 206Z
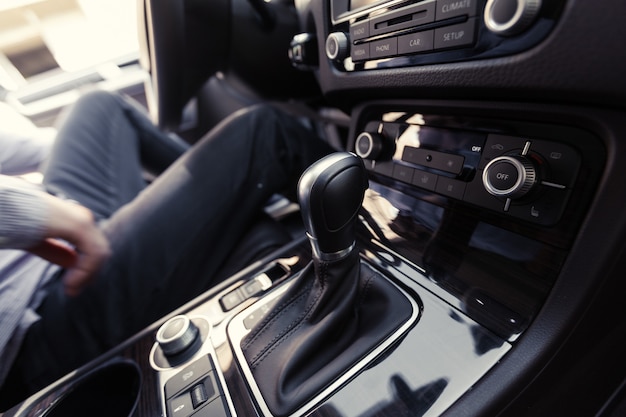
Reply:
M626 415L625 2L136 13L101 88L191 143L265 103L337 152L218 285L3 417Z

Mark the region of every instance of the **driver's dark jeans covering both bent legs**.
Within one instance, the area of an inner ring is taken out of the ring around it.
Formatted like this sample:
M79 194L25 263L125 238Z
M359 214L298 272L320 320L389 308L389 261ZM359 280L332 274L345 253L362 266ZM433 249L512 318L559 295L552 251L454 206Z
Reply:
M117 96L77 103L45 184L104 219L113 255L77 297L60 280L49 286L0 397L44 387L209 289L268 198L330 151L269 106L231 116L184 150ZM169 167L146 186L141 161Z

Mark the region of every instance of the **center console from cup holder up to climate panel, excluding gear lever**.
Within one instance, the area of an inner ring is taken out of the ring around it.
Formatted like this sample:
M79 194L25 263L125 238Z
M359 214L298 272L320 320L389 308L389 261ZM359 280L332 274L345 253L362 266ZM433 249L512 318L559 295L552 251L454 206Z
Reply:
M304 397L294 397L297 404L268 405L267 395L273 394L253 371L245 345L252 329L285 303L285 294L315 280L312 264L329 250L323 242L321 249L312 247L305 232L91 364L89 369L99 370L96 377L105 378L96 386L118 384L116 374L106 370L130 361L141 370L137 400L126 400L134 415L444 412L497 367L539 314L605 158L594 134L557 123L564 113L542 118L515 106L457 104L383 101L355 109L349 146L368 178L351 232L355 259L361 273L373 274L397 293L391 304L406 304L406 313L371 304L366 322L392 318L388 329L370 333L376 326L365 325L357 331L359 349L341 347L329 359L334 364L343 356L338 368L333 365L322 378L317 371L294 377L322 381ZM339 191L320 200L342 205L347 197ZM336 208L321 210L332 216ZM314 241L323 235L316 230L308 233ZM346 291L331 296L346 298ZM272 332L282 337L283 331ZM333 333L323 346L334 346L343 335L343 330ZM313 344L308 337L296 339L290 349ZM294 355L284 352L276 360ZM59 398L80 392L74 386L84 378L70 375L7 415L58 406Z

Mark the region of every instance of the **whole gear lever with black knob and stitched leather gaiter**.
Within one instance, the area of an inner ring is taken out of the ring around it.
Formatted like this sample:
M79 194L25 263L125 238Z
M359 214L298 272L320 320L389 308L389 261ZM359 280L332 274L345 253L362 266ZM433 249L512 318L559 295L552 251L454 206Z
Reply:
M274 416L298 410L414 316L407 297L362 263L355 248L366 189L362 161L346 152L321 159L300 178L313 262L241 342Z

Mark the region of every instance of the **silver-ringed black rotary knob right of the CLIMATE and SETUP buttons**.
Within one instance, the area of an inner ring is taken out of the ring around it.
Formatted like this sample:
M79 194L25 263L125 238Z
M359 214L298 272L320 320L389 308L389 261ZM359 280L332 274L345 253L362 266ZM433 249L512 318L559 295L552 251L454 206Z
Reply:
M498 35L516 35L533 23L540 8L541 0L488 0L485 25Z

